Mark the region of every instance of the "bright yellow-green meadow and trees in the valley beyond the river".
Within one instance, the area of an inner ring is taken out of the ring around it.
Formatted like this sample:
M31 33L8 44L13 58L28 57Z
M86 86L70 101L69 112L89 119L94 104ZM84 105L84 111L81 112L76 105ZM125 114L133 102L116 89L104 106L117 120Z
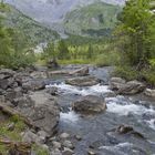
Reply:
M80 39L74 38L75 42L70 39L50 42L44 49L42 59L45 61L58 59L62 63L92 63L92 60L103 52L105 44L93 40L87 42L86 39L82 43Z

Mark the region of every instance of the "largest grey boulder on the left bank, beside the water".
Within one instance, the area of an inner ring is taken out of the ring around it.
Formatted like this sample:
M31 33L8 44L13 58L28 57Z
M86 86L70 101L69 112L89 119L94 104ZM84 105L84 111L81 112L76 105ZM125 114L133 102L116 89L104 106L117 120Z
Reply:
M50 94L44 92L34 92L30 95L34 107L28 112L28 117L33 125L44 131L51 136L55 131L60 117L60 108Z

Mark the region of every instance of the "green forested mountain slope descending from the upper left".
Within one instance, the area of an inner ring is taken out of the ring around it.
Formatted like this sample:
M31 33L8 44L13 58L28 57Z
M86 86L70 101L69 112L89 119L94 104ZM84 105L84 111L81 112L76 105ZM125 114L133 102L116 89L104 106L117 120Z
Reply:
M22 32L27 40L31 40L32 44L59 38L55 31L34 21L14 7L10 4L7 4L7 10L0 10L0 13L4 16L4 24L8 28L16 28L19 32Z

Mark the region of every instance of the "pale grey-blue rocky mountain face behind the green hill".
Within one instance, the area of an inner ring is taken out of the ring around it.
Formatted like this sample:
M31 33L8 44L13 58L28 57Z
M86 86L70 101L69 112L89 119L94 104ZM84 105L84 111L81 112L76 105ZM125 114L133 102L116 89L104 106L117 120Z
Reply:
M62 20L66 12L79 6L86 6L99 0L6 0L17 9L40 22L51 24ZM125 0L100 0L113 4L123 4Z

